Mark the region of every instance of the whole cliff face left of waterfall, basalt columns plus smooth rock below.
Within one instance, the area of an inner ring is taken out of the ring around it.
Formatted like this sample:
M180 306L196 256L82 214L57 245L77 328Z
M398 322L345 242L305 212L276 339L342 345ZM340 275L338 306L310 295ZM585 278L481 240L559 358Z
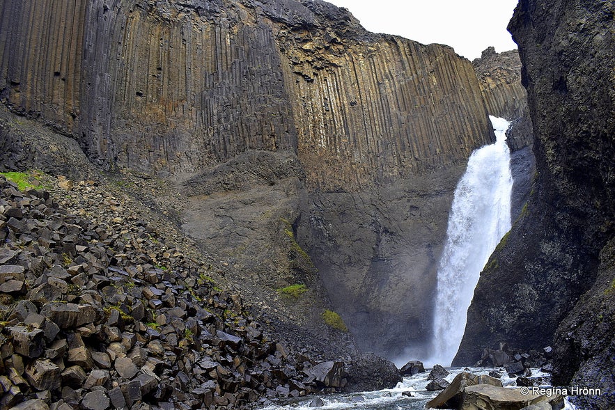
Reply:
M95 164L176 182L186 232L255 287L322 281L364 349L428 340L452 192L493 138L469 61L323 1L0 9L12 111Z

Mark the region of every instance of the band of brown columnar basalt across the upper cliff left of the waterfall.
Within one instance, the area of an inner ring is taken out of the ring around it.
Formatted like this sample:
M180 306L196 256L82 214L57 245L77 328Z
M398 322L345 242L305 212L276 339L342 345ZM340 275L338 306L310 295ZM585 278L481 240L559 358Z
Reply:
M463 161L490 138L467 61L366 33L328 3L1 6L6 103L109 166L196 171L290 149L341 167L307 166L309 186L357 189Z

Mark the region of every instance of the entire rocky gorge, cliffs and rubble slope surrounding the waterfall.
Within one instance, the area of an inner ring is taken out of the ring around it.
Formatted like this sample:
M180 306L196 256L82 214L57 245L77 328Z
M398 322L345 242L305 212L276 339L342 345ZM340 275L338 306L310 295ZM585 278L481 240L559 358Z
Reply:
M523 0L521 58L474 63L318 0L0 10L0 171L44 171L2 182L6 405L231 409L394 384L359 352L428 352L488 113L513 120L516 222L456 363L554 345L554 381L612 392L609 2Z

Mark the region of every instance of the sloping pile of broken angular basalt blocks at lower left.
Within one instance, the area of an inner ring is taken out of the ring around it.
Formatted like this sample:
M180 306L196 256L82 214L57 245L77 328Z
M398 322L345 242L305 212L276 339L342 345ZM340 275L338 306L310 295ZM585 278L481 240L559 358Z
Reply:
M113 200L93 195L110 210L93 223L47 191L0 191L1 408L240 409L345 386L344 363L268 340L239 294Z

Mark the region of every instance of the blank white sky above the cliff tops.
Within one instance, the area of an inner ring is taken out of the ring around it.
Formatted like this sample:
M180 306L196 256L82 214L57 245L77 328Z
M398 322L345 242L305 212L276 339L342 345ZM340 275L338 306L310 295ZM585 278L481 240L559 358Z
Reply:
M506 31L517 0L326 0L345 7L369 31L453 47L470 61L490 45L516 49Z

